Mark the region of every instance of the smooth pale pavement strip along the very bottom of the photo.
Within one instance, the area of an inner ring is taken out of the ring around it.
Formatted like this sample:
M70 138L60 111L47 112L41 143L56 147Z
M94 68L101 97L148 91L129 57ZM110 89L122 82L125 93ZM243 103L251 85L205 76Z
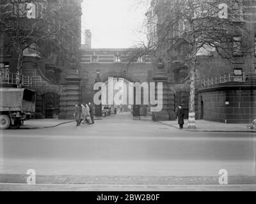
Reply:
M0 184L0 191L256 191L256 185Z

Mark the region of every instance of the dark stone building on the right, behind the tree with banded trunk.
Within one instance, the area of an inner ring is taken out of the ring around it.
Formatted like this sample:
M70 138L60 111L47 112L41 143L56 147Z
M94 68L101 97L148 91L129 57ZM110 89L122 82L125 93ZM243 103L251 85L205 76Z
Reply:
M172 0L169 0L172 3ZM152 1L148 18L156 18L161 24L164 10L159 10L159 3ZM174 2L174 1L173 1ZM225 2L225 1L223 1ZM255 1L243 1L243 18L236 24L246 28L243 34L233 34L234 47L232 57L224 59L214 49L201 49L196 57L196 119L205 119L227 123L249 123L256 116L256 10ZM179 38L185 25L174 27L173 38ZM153 26L148 26L152 39L158 40L159 33ZM244 41L246 39L246 41ZM248 49L250 47L250 49ZM168 77L170 98L175 106L182 103L188 112L189 68L185 65L186 46L168 50ZM171 109L174 108L170 107ZM187 115L188 117L188 115Z

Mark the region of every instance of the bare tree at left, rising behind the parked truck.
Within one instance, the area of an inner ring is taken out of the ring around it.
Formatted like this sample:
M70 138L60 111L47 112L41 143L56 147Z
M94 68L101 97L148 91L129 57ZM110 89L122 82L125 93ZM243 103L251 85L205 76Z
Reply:
M22 86L22 64L26 50L34 50L45 59L51 57L54 49L60 52L74 50L74 44L65 43L65 40L77 41L75 37L79 40L76 22L81 16L81 10L76 4L63 2L1 0L0 32L4 38L1 50L17 59L19 88Z

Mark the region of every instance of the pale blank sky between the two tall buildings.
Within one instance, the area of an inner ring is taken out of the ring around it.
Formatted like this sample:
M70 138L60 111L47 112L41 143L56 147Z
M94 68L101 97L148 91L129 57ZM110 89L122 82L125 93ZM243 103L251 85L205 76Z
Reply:
M140 1L83 0L82 42L84 29L92 32L92 48L129 48L145 40L148 3Z

